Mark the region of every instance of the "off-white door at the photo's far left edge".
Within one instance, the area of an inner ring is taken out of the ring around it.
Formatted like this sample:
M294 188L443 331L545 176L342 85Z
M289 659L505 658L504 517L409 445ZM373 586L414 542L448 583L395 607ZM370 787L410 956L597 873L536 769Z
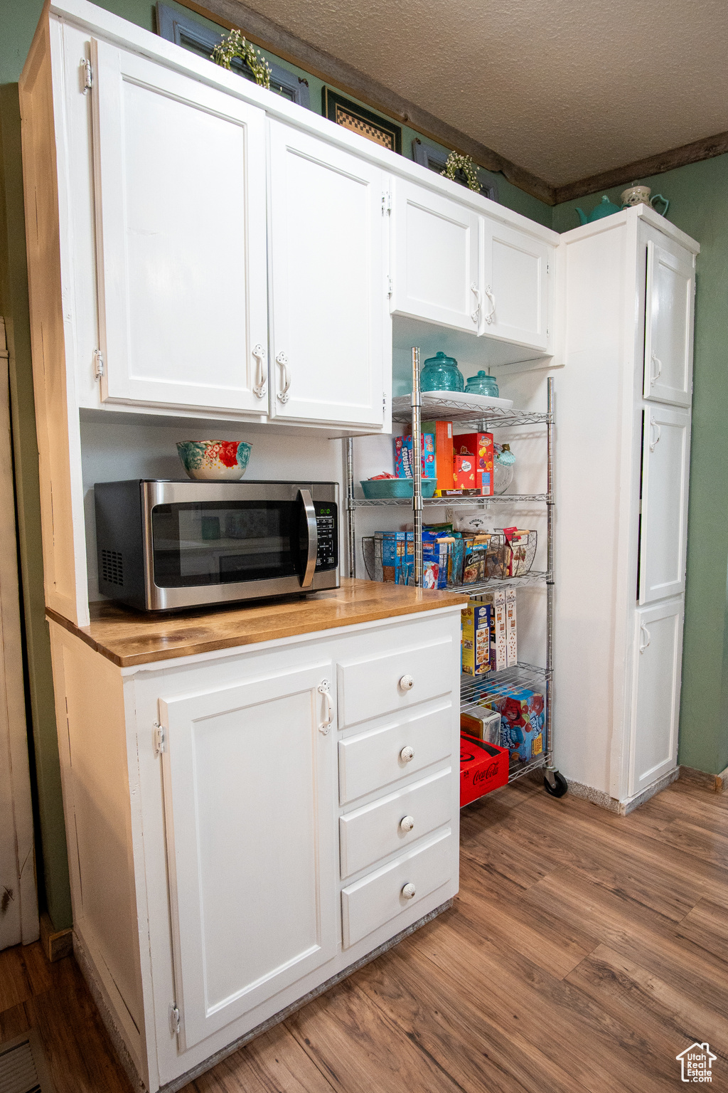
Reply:
M38 937L5 327L0 318L0 949Z

